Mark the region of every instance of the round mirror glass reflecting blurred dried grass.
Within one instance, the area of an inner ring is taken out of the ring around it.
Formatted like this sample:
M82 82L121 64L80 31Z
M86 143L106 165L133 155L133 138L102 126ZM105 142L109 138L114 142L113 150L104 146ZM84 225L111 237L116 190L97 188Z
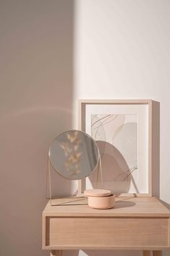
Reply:
M98 165L98 145L82 131L65 131L54 139L49 149L52 167L64 178L80 180Z

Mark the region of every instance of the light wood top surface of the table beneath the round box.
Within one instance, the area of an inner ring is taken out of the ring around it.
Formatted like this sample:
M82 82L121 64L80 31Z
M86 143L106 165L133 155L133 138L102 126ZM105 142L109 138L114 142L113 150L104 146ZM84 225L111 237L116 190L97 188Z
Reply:
M88 207L86 197L52 199L43 210L45 216L67 217L170 217L170 211L156 197L116 197L115 207L98 210Z

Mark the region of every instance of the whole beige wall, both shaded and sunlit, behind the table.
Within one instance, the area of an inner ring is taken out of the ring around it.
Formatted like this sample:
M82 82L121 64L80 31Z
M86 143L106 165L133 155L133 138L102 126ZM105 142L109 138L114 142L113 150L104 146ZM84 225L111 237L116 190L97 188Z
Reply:
M0 0L1 256L49 255L41 250L46 155L73 117L77 127L79 98L161 102L160 195L170 204L169 11L169 0ZM75 189L57 176L57 194Z

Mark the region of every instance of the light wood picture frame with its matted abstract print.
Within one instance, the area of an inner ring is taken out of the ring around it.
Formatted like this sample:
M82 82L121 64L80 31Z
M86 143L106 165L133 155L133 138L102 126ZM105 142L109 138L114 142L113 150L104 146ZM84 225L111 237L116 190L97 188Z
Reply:
M79 129L98 141L103 189L116 196L152 196L152 104L151 99L79 100ZM101 187L95 173L79 181L79 194Z

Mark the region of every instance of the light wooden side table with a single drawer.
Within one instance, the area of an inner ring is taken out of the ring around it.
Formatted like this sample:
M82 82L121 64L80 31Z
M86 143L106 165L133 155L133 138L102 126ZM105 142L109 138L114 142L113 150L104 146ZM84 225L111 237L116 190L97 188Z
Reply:
M160 256L170 249L170 212L155 197L117 197L109 210L88 207L85 197L53 199L43 210L43 249L141 249Z

